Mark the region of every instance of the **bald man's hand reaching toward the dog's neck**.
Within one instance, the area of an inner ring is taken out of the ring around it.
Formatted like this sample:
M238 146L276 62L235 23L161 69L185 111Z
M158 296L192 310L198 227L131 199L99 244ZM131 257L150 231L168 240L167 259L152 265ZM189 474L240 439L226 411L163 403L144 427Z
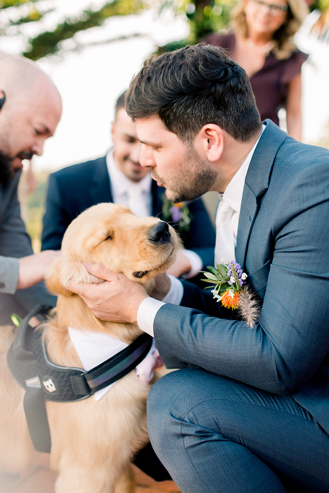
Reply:
M61 250L44 250L19 258L17 289L25 289L42 281L50 264L62 255Z

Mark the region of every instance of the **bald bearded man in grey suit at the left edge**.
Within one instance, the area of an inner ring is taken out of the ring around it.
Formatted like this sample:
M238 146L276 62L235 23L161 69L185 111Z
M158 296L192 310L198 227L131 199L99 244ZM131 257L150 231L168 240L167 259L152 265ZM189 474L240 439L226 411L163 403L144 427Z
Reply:
M55 305L42 281L59 252L33 254L20 216L22 160L42 153L60 120L60 95L34 62L0 53L0 324L40 303Z

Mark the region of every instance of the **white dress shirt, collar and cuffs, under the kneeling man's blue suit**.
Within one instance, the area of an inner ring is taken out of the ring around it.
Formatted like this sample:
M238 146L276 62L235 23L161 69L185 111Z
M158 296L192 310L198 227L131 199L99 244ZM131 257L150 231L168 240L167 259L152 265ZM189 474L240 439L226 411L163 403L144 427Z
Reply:
M232 241L234 242L234 246L232 246L232 250L235 251L236 246L236 237L238 233L238 224L240 217L240 209L242 202L243 189L245 186L245 179L248 172L248 168L250 162L252 160L253 154L255 152L256 146L259 142L259 139L264 132L266 126L262 125L261 133L255 142L254 147L246 157L245 161L242 163L236 174L233 176L229 184L227 185L225 192L223 194L219 194L219 199L224 199L225 202L233 209L233 213L231 216L231 228L232 228ZM216 251L215 251L216 258ZM220 262L220 259L216 259ZM232 260L232 259L228 259ZM153 323L154 318L158 312L158 310L165 303L172 303L173 305L179 305L183 298L183 284L178 279L170 276L170 289L168 294L163 298L162 301L155 300L154 298L146 298L142 301L139 306L137 313L137 323L139 327L146 332L147 334L154 337L153 332ZM179 287L179 284L181 287Z

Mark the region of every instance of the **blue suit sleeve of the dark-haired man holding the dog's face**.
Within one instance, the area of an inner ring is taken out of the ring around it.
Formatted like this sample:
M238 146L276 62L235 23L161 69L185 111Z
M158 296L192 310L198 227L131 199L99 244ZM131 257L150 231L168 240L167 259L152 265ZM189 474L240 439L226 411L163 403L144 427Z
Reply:
M197 366L279 394L299 391L321 367L329 352L328 165L315 171L280 197L256 327L214 317L198 288L187 288L190 308L164 305L154 320L167 367Z

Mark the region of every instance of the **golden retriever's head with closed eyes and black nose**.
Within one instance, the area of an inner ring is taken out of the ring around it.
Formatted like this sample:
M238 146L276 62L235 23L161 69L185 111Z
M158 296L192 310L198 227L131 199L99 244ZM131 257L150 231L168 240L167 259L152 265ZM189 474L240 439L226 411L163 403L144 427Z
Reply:
M127 207L98 204L82 212L68 227L62 242L63 256L46 276L48 289L70 296L69 280L98 283L81 262L103 264L128 279L146 283L175 260L178 236L166 222L138 217Z

